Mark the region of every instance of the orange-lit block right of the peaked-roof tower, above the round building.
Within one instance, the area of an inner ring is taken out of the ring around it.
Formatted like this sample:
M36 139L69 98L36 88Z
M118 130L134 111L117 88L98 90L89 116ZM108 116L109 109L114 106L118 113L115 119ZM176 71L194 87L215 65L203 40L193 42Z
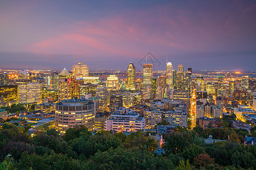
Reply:
M73 80L73 97L84 97L89 94L89 85L84 83L84 80Z

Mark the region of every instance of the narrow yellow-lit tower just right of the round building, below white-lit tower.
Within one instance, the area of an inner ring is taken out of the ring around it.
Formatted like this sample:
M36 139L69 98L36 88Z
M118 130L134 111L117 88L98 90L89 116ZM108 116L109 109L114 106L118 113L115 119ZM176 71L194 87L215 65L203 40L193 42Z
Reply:
M96 88L96 97L99 99L98 109L100 112L105 112L107 110L108 104L108 90L106 87Z

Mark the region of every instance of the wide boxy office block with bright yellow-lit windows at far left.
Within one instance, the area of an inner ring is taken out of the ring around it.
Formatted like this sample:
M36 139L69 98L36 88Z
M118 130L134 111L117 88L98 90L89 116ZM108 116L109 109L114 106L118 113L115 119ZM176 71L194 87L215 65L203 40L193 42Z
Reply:
M20 84L18 91L20 103L41 103L42 101L42 84Z

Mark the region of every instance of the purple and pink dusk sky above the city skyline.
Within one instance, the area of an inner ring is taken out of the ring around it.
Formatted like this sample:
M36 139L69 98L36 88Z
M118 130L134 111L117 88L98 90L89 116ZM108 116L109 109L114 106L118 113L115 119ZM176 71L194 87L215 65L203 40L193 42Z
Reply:
M1 1L0 67L256 70L256 1Z

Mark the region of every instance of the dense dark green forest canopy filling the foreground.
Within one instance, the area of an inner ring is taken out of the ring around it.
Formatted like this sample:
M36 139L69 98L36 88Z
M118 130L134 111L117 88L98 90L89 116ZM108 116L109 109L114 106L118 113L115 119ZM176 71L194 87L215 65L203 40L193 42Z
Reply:
M256 147L244 146L243 131L232 129L188 131L177 128L165 134L165 154L152 151L158 141L148 133L130 135L109 131L92 134L85 126L61 136L54 128L30 137L23 128L5 122L0 130L0 169L255 169ZM241 133L241 137L240 134ZM230 141L205 144L203 138Z

